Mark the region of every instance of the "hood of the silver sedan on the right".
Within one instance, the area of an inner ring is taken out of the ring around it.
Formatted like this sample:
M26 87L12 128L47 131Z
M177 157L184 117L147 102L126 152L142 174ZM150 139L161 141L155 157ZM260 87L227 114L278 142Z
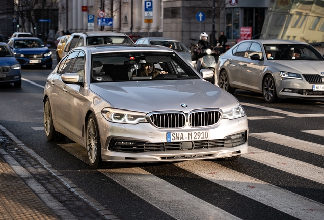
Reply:
M311 60L285 60L269 61L268 66L275 67L279 71L293 72L299 74L320 74L324 72L324 61Z

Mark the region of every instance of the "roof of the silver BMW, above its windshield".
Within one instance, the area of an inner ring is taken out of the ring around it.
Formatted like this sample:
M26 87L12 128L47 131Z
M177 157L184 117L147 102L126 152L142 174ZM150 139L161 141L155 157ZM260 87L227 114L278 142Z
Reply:
M148 44L102 44L102 45L91 45L77 47L75 49L90 49L91 53L102 53L102 52L127 52L127 51L158 51L158 52L174 52L172 49L159 46L159 45L148 45Z

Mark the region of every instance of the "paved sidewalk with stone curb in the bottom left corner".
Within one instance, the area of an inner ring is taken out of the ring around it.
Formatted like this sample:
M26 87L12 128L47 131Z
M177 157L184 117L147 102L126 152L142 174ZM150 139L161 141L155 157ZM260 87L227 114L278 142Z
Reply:
M116 219L0 125L0 220Z

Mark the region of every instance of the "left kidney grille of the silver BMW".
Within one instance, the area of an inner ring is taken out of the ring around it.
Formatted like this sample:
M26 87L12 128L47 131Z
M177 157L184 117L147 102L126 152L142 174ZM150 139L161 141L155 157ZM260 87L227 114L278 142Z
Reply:
M183 128L185 126L185 115L183 113L153 113L150 115L150 119L158 128Z

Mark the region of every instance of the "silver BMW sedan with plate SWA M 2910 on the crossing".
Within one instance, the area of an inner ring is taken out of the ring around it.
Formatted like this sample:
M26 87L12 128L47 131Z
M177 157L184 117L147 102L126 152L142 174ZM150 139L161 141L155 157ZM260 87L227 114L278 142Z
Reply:
M248 120L230 93L205 81L173 50L154 45L78 47L44 89L47 139L87 149L93 168L115 162L236 160Z

